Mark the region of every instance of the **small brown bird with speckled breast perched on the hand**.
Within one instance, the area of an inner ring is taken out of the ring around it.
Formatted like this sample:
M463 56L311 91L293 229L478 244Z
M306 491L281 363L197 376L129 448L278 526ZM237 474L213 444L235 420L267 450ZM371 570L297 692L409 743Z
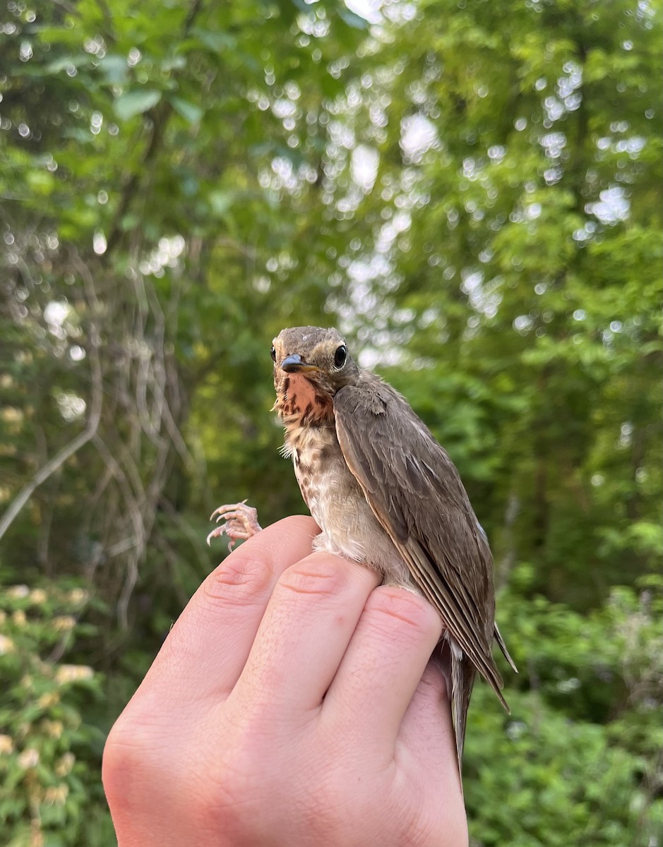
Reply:
M493 640L517 673L495 621L493 559L487 536L447 451L409 403L359 368L333 328L283 329L271 346L282 452L320 527L315 550L361 562L383 583L431 602L443 621L439 644L448 684L456 758L462 773L467 711L479 673L504 708ZM257 512L222 506L231 544L259 531Z

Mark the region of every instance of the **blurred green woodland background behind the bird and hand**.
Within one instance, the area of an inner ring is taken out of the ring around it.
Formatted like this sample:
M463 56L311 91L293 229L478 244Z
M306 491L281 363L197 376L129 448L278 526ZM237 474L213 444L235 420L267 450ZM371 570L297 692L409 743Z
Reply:
M491 540L473 844L662 843L660 47L660 0L3 0L0 843L114 843L103 740L209 513L306 511L296 324Z

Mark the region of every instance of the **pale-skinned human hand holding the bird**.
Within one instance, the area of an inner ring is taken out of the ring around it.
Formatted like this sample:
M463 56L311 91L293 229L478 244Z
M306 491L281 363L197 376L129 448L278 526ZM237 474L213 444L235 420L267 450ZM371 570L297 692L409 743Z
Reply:
M104 751L120 847L466 847L420 596L286 518L228 556Z

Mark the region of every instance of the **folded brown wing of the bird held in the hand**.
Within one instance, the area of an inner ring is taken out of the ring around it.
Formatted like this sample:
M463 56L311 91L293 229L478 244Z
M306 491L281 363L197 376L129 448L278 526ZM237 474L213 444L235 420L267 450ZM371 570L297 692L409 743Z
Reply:
M404 398L369 372L337 392L334 412L343 456L370 508L506 707L491 654L492 557L453 462Z

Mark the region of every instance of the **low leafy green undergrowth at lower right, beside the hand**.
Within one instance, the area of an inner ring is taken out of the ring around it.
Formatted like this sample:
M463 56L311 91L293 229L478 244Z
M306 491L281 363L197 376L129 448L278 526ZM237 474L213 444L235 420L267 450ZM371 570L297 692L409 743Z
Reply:
M500 597L526 685L510 691L510 716L483 685L470 711L472 837L486 847L656 844L661 580L639 592L616 589L585 616L543 597L523 602L518 589L531 579L531 569L520 568Z

